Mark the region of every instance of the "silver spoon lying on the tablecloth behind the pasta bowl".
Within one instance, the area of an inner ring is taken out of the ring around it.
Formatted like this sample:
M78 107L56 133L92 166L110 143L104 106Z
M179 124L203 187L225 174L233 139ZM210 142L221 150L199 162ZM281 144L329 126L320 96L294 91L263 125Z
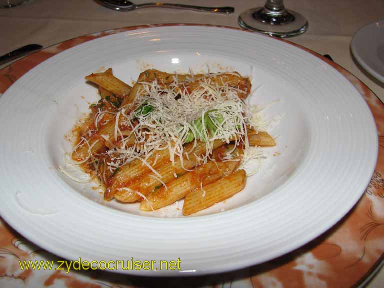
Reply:
M126 0L95 0L101 5L117 10L117 11L133 11L140 8L172 8L172 9L186 9L200 12L212 12L212 13L225 13L230 14L234 12L233 7L201 7L201 6L191 6L191 5L183 5L183 4L171 4L171 3L143 3L135 5L130 1Z

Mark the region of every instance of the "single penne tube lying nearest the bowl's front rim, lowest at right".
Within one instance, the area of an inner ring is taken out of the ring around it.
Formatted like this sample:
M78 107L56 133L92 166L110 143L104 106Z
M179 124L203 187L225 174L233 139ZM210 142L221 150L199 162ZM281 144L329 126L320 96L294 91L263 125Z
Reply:
M206 185L203 187L203 191L199 188L194 189L186 195L182 212L185 216L188 216L228 199L241 191L245 187L245 183L245 171L238 170L227 177Z

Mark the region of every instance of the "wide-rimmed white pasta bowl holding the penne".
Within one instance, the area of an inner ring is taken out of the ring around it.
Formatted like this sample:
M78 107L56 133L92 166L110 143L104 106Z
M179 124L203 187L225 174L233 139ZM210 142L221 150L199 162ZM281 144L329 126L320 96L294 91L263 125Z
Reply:
M182 216L182 201L161 213L105 202L58 167L71 149L64 135L98 97L84 77L107 67L128 83L150 67L249 76L250 102L281 118L270 130L277 146L244 191L194 216ZM120 273L207 274L283 255L353 207L377 159L372 114L339 72L283 41L222 27L146 27L80 44L20 78L0 106L1 216L66 259L156 261ZM178 258L181 270L156 270Z

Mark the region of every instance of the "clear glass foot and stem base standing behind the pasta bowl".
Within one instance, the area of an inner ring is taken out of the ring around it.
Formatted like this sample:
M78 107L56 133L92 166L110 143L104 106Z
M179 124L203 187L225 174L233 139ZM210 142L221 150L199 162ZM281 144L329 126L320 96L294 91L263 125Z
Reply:
M283 0L267 0L264 7L241 13L238 24L245 29L280 38L297 36L308 29L306 18L285 9Z

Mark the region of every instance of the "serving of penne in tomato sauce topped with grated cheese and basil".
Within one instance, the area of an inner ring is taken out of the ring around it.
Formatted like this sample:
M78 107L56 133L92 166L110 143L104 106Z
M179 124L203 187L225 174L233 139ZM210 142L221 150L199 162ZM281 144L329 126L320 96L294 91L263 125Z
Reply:
M150 211L185 197L189 215L244 187L245 172L234 171L259 155L247 153L249 146L276 145L250 128L243 99L251 82L237 72L149 69L133 87L111 68L85 79L101 99L77 127L71 157L99 179L106 201L141 201L140 209Z

